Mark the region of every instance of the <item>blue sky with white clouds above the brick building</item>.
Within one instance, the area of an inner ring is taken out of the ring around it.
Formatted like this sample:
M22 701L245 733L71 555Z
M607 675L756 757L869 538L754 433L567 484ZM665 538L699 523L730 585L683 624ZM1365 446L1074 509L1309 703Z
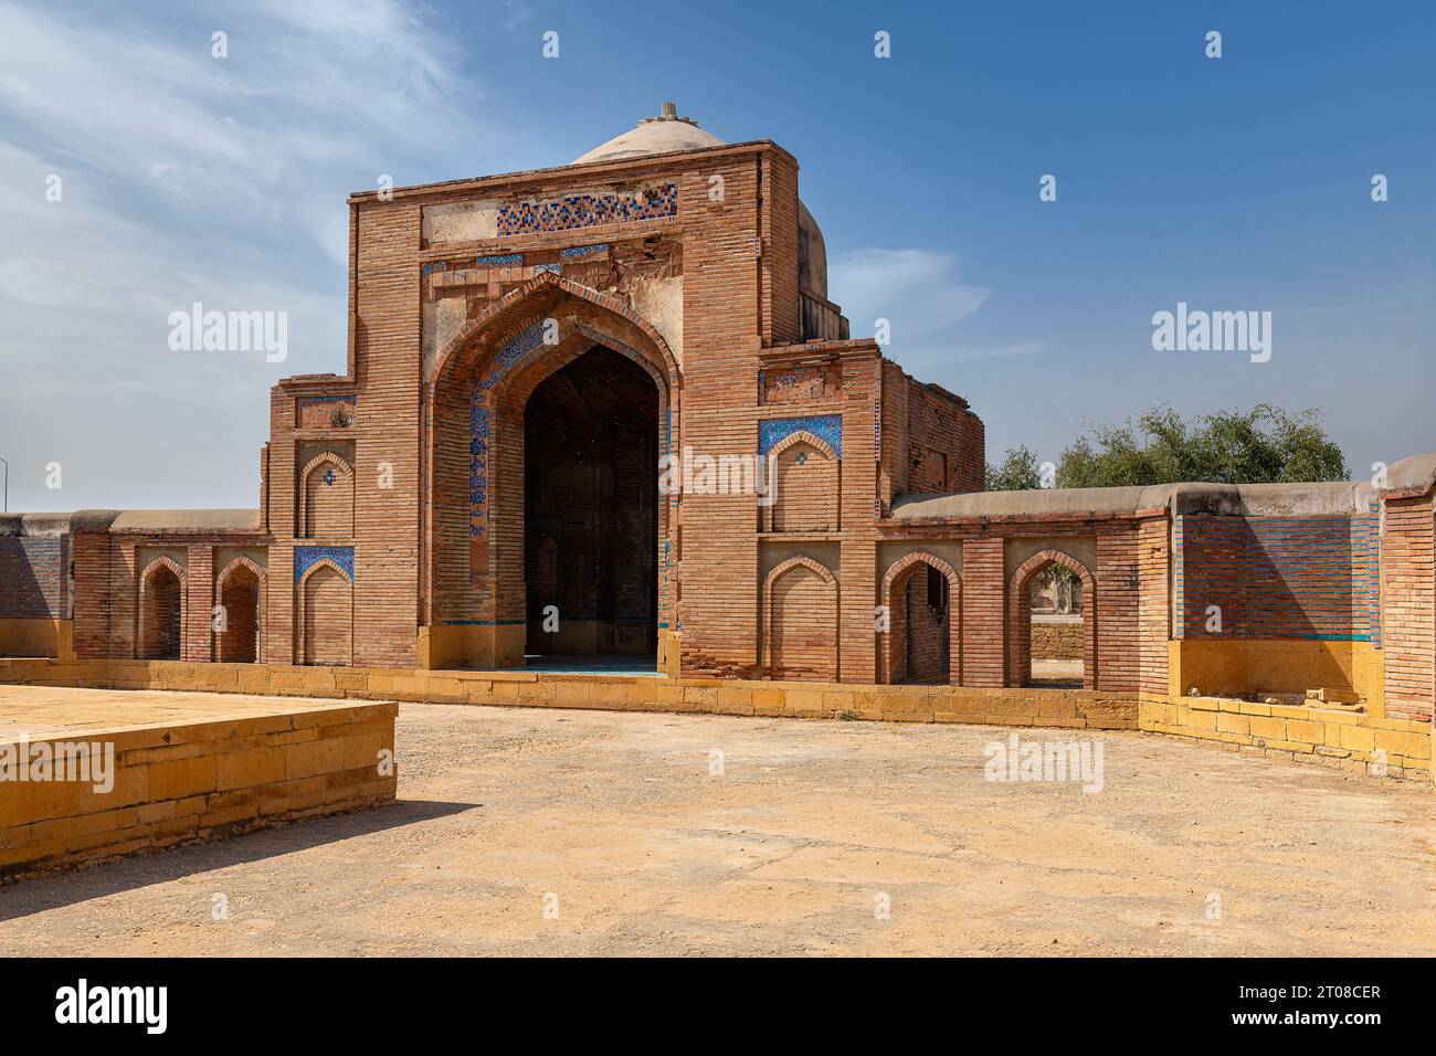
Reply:
M889 319L989 457L1162 402L1325 408L1357 476L1436 448L1436 4L0 0L0 24L11 510L254 504L269 386L343 371L349 191L563 164L663 99L798 158L853 333ZM287 362L171 352L192 300L286 310ZM1269 310L1271 361L1155 352L1178 302Z

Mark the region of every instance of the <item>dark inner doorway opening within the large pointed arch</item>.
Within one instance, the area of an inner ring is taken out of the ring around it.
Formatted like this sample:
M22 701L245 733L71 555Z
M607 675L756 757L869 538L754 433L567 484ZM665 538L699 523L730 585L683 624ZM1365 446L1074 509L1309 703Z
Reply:
M658 652L658 386L595 345L524 408L530 659Z

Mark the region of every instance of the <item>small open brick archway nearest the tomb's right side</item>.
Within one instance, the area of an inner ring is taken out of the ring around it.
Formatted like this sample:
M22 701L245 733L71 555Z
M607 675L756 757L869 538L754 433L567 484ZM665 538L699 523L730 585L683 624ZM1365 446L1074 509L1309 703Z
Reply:
M883 575L887 629L879 634L882 681L962 684L962 580L948 562L913 550Z

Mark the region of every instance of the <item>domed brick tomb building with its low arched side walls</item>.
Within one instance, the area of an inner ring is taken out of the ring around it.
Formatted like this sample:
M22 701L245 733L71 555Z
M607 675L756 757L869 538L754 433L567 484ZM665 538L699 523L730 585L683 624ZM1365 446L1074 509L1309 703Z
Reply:
M352 195L346 369L273 388L258 509L9 517L0 652L998 691L1058 563L1086 691L1429 720L1436 457L988 494L984 455L849 335L797 159L666 106L570 165Z

